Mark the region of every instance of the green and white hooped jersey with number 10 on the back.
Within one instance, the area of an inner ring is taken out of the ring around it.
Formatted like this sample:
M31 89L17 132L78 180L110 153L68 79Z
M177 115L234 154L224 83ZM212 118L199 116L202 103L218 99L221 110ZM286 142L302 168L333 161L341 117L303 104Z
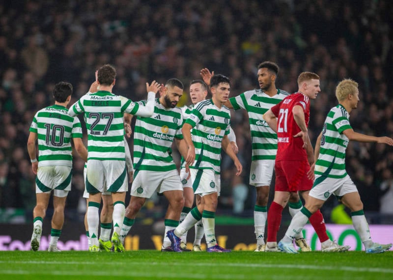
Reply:
M36 112L30 132L38 135L38 167L72 167L71 138L82 138L82 126L64 106L52 105Z

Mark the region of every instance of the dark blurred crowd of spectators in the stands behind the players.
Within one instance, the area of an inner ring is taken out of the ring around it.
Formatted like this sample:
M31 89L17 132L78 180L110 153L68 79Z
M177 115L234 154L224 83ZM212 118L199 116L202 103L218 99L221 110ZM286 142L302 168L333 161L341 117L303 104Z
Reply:
M351 78L360 87L359 106L350 117L354 130L392 137L392 22L390 0L3 1L0 208L23 209L26 221L32 219L35 176L26 148L32 117L54 103L54 84L73 84L72 104L106 63L117 70L113 92L133 101L146 98L145 84L153 80L177 78L188 93L189 83L200 79L204 67L230 78L231 96L259 88L257 65L265 60L280 66L276 86L289 92L297 90L301 72L315 72L322 92L311 101L313 145L327 112L337 104L337 83ZM181 103L191 104L188 94L184 96ZM244 172L235 177L232 162L223 156L218 214L247 217L253 215L255 202L255 190L248 184L247 112L232 112L231 123ZM131 137L131 150L132 142ZM365 212L393 215L393 148L354 142L346 159ZM83 218L83 166L76 155L66 219ZM326 211L336 205L331 198L324 206L328 221ZM160 197L153 197L141 215L161 218L163 207Z

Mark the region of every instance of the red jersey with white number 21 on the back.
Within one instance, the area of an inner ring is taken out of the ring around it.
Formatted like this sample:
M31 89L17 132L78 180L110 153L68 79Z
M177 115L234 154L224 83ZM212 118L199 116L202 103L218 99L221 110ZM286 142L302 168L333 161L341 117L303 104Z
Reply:
M301 137L294 138L301 130L293 118L292 109L299 105L304 110L306 126L309 126L310 102L309 97L301 92L285 97L279 104L271 108L277 117L278 149L276 161L307 161L307 152L303 148Z

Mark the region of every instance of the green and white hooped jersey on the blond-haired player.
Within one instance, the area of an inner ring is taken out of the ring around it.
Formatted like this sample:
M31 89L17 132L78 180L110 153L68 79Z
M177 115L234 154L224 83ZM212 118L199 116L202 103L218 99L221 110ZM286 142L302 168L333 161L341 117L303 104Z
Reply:
M347 175L345 150L349 140L342 132L351 128L345 108L340 104L333 107L322 129L321 147L314 169L316 177L343 178Z

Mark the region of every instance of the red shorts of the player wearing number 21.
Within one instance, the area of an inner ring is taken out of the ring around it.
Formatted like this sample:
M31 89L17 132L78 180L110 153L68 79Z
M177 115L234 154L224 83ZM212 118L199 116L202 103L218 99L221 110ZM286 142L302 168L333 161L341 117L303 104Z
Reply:
M309 191L313 181L307 177L310 169L308 161L278 161L275 166L275 191L297 192Z

